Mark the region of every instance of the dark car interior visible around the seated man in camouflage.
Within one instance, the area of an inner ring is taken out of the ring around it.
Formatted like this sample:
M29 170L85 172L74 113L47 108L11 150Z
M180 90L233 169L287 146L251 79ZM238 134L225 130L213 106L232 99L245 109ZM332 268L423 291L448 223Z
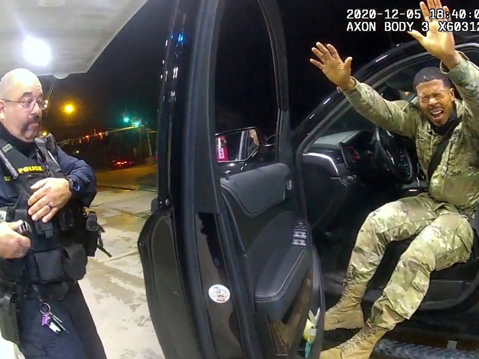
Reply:
M474 58L478 59L478 53L469 54L469 57L474 61ZM422 67L438 66L431 61L400 69L375 86L376 90L387 100L415 103L412 79ZM419 168L411 140L392 135L396 146L409 153L413 165L408 169L406 156L399 156L397 166L405 173L399 178L385 166L384 157L377 149L380 144L375 133L384 134L386 131L375 128L349 104L337 110L332 122L308 144L301 163L308 220L321 258L329 305L335 303L342 292L356 235L366 216L387 202L427 191L425 176ZM400 255L412 239L388 246L369 283L365 303L372 304L380 296ZM477 287L478 270L479 259L473 254L467 263L433 272L420 310L460 307Z

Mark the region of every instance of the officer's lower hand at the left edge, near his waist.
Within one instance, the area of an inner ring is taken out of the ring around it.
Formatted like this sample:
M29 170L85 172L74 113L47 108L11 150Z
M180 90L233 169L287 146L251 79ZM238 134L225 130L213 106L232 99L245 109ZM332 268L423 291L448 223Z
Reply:
M0 257L23 258L30 248L30 239L19 235L15 230L22 221L0 223Z

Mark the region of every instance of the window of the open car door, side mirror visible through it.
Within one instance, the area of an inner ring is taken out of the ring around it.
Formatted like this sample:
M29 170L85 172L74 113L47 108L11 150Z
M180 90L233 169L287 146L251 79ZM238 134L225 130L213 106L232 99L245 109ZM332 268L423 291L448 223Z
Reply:
M250 169L270 164L274 156L256 154L258 140L275 134L278 110L271 42L256 0L225 1L214 96L218 162L249 158Z

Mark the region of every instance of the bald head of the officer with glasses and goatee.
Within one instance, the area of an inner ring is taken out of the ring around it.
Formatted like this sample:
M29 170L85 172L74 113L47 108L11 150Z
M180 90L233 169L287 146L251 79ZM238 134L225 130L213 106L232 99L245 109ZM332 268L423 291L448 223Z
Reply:
M42 119L43 91L36 75L15 68L0 80L0 122L15 137L34 141Z

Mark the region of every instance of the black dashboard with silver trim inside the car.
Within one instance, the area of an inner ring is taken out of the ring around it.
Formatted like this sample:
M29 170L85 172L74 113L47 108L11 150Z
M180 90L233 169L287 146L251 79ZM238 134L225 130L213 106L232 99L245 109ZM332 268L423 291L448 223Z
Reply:
M301 170L308 220L314 231L327 231L352 218L364 220L390 202L394 181L384 180L375 156L374 133L341 132L318 138L303 153Z

